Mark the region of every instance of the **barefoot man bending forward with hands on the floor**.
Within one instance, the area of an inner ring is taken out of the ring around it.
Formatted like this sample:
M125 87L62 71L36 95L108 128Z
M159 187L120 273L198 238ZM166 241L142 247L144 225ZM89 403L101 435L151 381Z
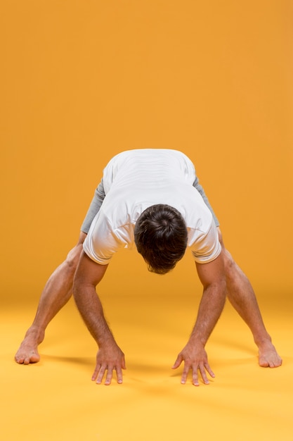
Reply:
M259 348L259 365L282 360L261 318L249 280L225 249L219 221L209 205L190 159L180 151L124 151L105 167L76 247L49 278L37 315L15 355L19 364L39 361L38 345L46 326L74 294L79 312L98 344L92 380L109 385L113 372L122 383L124 354L115 342L96 294L108 264L120 248L136 244L150 271L164 274L176 266L188 247L203 285L197 319L173 368L184 363L181 383L191 370L208 384L205 344L221 315L226 295L245 320Z

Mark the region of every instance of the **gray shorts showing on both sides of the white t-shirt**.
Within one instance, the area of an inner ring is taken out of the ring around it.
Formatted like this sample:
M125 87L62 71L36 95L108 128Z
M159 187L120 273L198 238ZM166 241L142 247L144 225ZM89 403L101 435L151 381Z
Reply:
M198 178L195 178L195 182L193 182L193 187L196 188L196 190L202 196L202 199L204 199L204 203L207 205L209 211L211 211L216 226L219 227L220 223L218 221L218 218L216 217L214 210L211 208L211 205L209 204L209 200L207 199L207 196L204 193L204 189L198 182ZM86 217L84 218L84 222L82 223L82 228L81 228L82 232L85 232L86 234L89 232L89 228L91 226L91 223L93 222L93 218L96 216L96 213L98 213L100 206L103 203L104 197L105 197L105 191L104 191L103 179L102 179L100 181L100 184L96 188L95 194L93 195L93 199L91 201L91 205L89 206L89 210L87 211Z

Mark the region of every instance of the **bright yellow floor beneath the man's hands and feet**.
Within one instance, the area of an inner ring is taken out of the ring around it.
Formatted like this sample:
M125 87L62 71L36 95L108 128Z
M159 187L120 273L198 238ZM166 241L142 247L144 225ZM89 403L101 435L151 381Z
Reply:
M153 285L155 279L148 277L147 284ZM200 293L174 294L170 286L163 289L162 278L157 280L157 295L148 294L148 285L140 292L129 287L127 295L101 289L108 320L126 354L123 385L91 382L96 346L74 302L49 326L41 362L18 366L13 355L37 297L4 306L1 440L293 440L289 293L279 292L277 301L259 292L263 317L283 357L281 368L259 368L246 325L226 304L207 345L216 378L194 387L181 385L181 371L171 366L190 332Z

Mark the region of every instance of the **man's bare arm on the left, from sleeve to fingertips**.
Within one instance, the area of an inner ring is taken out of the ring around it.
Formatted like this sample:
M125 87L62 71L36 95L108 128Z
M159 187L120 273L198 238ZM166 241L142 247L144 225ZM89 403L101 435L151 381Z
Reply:
M103 306L96 294L96 285L102 280L107 268L108 265L100 265L92 261L83 252L74 278L73 295L84 323L99 348L92 380L101 383L107 371L105 385L110 385L113 371L117 373L118 383L122 383L125 361L124 354L115 342L105 320Z

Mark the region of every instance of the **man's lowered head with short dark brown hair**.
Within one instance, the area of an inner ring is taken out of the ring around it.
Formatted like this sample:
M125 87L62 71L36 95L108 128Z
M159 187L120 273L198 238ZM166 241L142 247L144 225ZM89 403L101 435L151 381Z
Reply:
M149 271L166 274L185 253L188 232L178 210L165 204L145 209L136 221L134 241Z

